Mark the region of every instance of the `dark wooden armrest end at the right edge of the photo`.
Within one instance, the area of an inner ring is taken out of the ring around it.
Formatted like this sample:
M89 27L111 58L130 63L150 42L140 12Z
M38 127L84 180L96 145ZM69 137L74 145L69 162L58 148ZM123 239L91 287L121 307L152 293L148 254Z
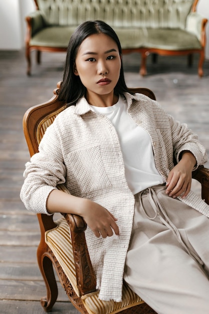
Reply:
M199 166L193 171L192 178L201 183L201 197L209 205L209 169Z

